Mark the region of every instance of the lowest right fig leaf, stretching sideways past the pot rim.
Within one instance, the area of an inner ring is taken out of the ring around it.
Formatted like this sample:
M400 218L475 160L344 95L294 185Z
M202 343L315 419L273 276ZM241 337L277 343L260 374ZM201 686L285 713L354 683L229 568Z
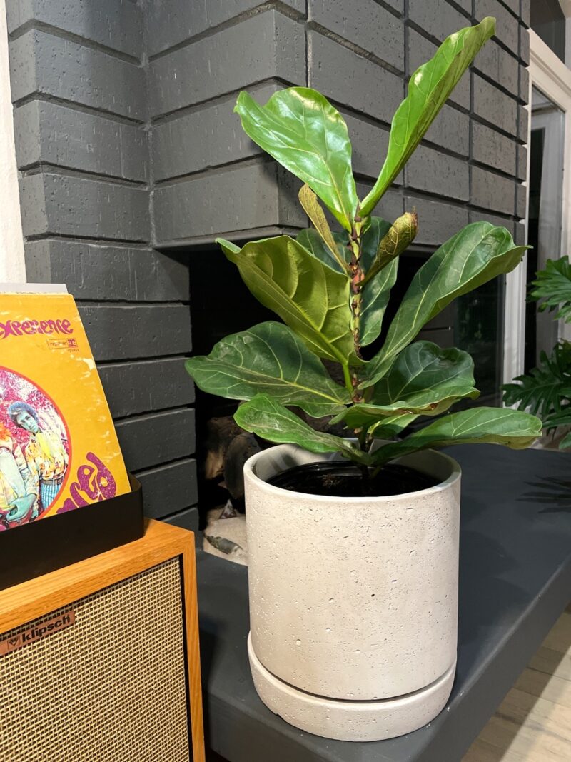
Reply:
M478 442L522 450L540 435L541 421L534 415L509 408L474 408L445 415L400 442L379 447L371 457L380 465L429 447Z

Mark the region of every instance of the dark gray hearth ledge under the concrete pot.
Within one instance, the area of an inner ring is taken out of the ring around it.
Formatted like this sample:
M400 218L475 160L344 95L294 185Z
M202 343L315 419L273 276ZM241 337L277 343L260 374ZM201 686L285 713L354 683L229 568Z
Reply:
M571 598L571 455L447 451L463 470L458 671L448 706L426 728L372 743L328 741L283 722L250 677L247 570L199 552L210 748L230 762L461 760Z

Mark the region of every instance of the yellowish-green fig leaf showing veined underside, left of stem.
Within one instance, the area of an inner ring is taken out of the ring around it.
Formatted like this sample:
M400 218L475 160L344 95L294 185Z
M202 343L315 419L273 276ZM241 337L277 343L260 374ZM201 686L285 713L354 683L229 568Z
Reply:
M217 239L247 287L318 357L359 364L351 333L349 278L312 256L287 235L238 248Z

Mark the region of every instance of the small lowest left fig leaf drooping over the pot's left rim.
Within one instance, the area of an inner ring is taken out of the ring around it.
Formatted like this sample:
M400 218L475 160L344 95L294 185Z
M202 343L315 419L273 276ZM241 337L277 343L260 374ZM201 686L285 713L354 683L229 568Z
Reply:
M270 442L298 444L310 453L341 453L346 458L368 462L367 453L362 453L351 442L323 431L314 431L292 411L267 395L256 395L250 402L240 405L234 413L234 421L246 431Z

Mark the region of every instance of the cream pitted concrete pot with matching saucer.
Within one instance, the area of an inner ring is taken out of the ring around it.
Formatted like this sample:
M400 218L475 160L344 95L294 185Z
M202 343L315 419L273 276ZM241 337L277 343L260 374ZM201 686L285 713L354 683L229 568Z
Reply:
M454 680L460 466L432 450L407 456L439 484L391 498L266 484L320 459L279 445L244 466L254 684L305 731L393 738L434 718Z

